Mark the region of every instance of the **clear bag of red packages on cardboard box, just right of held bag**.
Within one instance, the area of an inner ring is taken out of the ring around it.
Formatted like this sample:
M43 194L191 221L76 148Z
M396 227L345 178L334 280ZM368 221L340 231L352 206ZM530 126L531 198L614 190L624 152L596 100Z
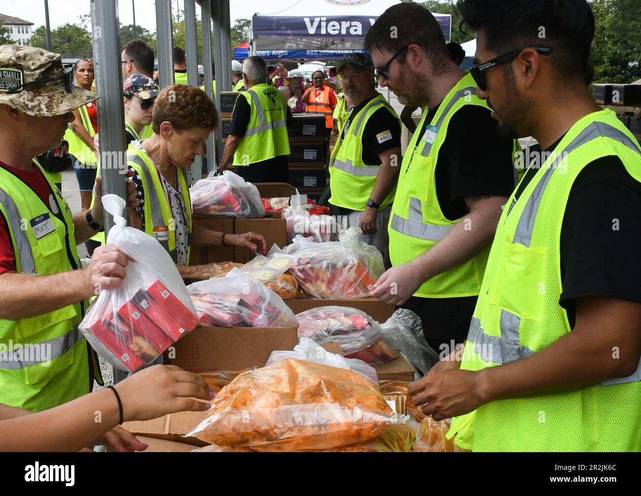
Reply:
M205 327L296 327L283 299L263 283L233 269L226 277L187 286L199 325Z

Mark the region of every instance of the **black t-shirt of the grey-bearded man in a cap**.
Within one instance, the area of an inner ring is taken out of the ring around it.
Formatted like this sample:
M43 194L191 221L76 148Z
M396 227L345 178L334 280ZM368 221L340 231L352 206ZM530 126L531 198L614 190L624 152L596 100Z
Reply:
M374 98L376 96L365 100L351 110L343 128L342 140L345 139L345 135L349 132L351 124L354 124L352 120L356 117L356 114ZM379 108L367 119L367 124L363 129L362 144L363 152L361 155L365 165L381 165L379 153L401 147L401 124L387 107Z

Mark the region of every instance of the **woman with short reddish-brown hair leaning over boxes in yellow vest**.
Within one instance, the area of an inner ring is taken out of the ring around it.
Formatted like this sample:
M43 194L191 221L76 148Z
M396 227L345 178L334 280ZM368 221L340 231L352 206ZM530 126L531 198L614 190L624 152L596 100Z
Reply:
M130 225L154 236L176 261L181 276L189 279L208 279L213 267L188 266L192 245L222 244L267 253L263 236L221 233L192 223L190 167L196 155L203 153L204 142L217 122L216 107L203 90L169 85L154 103L154 134L127 151L140 201L129 212Z

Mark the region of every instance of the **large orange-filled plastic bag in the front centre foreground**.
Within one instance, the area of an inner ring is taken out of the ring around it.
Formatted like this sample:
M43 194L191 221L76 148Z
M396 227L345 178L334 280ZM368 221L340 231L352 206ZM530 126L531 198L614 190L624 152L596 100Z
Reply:
M240 374L209 414L187 436L256 451L335 448L405 420L361 374L294 358Z

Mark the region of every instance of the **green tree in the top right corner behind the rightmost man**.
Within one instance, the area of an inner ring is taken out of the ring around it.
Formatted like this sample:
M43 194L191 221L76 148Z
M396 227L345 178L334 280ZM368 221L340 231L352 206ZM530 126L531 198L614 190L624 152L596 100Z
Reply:
M595 36L590 60L595 83L641 78L641 8L638 0L594 0Z

